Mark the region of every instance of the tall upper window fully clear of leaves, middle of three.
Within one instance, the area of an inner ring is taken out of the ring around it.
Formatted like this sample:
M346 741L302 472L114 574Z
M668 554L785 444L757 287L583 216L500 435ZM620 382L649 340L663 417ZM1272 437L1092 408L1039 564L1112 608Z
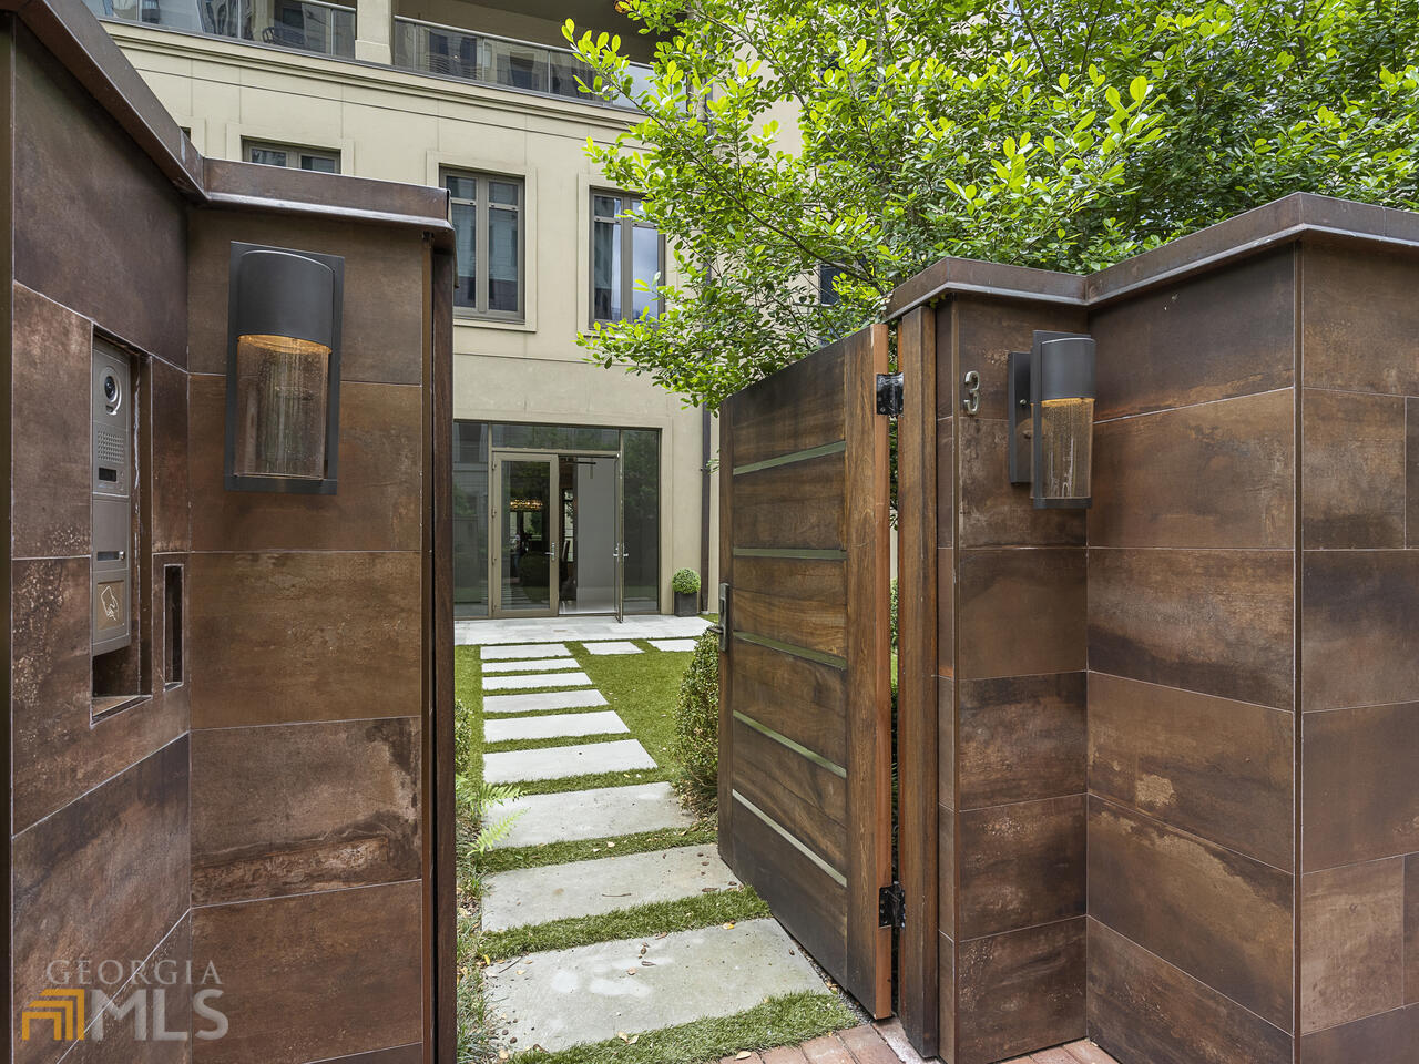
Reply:
M522 179L444 173L443 180L453 200L458 248L454 309L480 318L522 321Z

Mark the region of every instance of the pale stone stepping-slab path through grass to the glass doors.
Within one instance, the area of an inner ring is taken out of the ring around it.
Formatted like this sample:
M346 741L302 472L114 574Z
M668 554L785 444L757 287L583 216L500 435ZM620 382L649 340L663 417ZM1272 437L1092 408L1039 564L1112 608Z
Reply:
M575 640L548 621L535 630L524 624L484 630L488 638L480 651L485 663L481 684L490 692L484 695L484 738L498 743L495 752L484 753L488 782L658 767L637 739L617 738L629 731L626 722L614 702L607 705L586 672L576 670L572 654L585 651L582 660L596 663L613 655L683 653L692 648L692 637L705 623L698 617L684 619L691 624L657 617L656 624L641 624L631 634L623 627L606 630L604 621L596 627L586 624L587 619L575 620L582 621L575 626L580 637ZM684 660L688 664L688 657ZM592 664L587 668L595 672ZM526 682L518 684L524 678ZM528 689L512 694L519 687ZM559 689L545 689L551 687ZM668 701L674 692L666 697ZM525 749L518 749L519 743ZM538 932L558 921L595 919L742 890L712 846L610 855L619 838L692 826L664 782L528 794L490 810L488 817L501 820L509 813L518 816L499 847L607 838L607 855L488 875L481 908L484 932ZM484 976L499 1029L519 1050L541 1046L556 1051L634 1037L732 1016L780 994L830 993L773 919L552 949L505 959Z

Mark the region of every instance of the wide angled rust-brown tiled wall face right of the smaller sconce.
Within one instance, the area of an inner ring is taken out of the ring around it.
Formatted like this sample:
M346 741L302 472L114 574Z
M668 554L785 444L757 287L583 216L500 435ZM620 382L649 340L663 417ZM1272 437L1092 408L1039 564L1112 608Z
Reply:
M1284 247L1090 316L1090 1031L1125 1064L1293 1057L1294 288Z

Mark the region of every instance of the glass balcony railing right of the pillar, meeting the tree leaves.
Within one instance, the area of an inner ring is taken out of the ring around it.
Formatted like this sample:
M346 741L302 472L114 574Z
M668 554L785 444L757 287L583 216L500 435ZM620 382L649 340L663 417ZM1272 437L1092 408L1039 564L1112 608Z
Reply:
M528 44L485 33L460 30L417 18L394 18L394 65L420 74L475 81L482 85L545 92L579 99L583 104L607 104L630 108L624 98L596 96L583 92L578 78L592 84L595 72L566 48ZM631 64L637 87L650 82L650 67Z

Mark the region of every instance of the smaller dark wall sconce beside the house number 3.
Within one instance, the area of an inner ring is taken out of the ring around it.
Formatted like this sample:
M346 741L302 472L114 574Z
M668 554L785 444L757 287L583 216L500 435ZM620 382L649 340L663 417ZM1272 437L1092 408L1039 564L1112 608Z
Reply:
M1036 509L1088 506L1094 338L1036 332L1009 373L1010 484L1032 484Z

